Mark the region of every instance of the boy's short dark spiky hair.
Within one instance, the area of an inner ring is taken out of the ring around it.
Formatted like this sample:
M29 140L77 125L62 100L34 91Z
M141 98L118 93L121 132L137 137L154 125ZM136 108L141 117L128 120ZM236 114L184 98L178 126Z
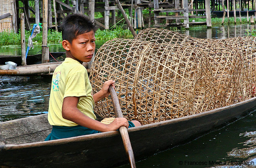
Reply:
M90 20L86 15L67 15L61 23L62 40L67 40L70 43L80 34L92 30L96 32L96 23L94 20Z

